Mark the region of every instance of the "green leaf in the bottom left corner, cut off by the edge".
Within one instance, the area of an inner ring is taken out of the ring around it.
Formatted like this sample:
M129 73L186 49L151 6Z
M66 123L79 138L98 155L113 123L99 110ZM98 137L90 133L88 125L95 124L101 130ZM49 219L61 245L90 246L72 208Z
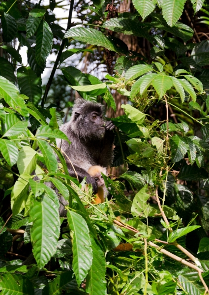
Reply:
M2 295L34 295L34 287L29 279L10 272L1 274L0 291Z

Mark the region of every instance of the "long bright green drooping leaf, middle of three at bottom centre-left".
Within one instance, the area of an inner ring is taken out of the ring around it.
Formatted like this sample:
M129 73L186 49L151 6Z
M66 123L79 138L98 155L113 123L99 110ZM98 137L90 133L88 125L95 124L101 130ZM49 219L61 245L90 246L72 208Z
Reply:
M73 249L73 271L80 286L86 278L92 265L92 249L89 228L85 219L73 211L67 212L67 221L70 227L70 236Z

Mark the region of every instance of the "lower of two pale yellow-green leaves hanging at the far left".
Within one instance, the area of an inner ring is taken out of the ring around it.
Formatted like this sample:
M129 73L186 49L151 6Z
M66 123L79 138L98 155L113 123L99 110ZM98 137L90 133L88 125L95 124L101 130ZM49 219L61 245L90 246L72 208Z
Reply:
M26 205L29 191L29 174L22 174L14 184L11 192L11 209L15 216L20 213Z

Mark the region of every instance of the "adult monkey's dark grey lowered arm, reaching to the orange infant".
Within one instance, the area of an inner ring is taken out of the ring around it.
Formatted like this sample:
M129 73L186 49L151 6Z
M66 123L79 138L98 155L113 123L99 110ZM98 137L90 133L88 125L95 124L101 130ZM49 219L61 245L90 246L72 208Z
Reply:
M81 182L84 179L84 177L87 177L86 178L87 183L91 183L92 188L93 188L93 193L96 194L97 193L97 184L96 184L95 179L93 177L91 177L89 175L89 173L86 172L84 169L82 169L76 165L73 165L73 167L75 168L75 171L78 175L79 182ZM67 169L68 169L70 176L75 177L75 178L77 177L74 169L72 168L72 165L68 161L67 161Z

